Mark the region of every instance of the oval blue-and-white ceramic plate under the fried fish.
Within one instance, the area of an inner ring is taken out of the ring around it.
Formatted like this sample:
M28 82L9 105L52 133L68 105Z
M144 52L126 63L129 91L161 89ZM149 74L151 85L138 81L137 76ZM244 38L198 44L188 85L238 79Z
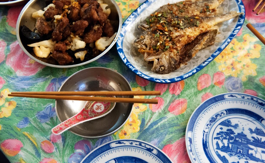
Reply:
M245 14L242 14L239 17L219 24L220 29L214 45L200 50L195 57L180 69L170 72L169 74L156 74L151 72L153 65L144 60L143 55L133 47L132 43L142 33L142 30L138 29L140 22L145 20L148 15L156 11L160 6L179 1L182 0L147 0L132 13L122 25L121 33L117 40L118 53L129 69L149 81L173 83L194 75L223 51L239 32L245 20ZM224 0L220 8L224 13L229 11L245 13L245 7L241 0Z

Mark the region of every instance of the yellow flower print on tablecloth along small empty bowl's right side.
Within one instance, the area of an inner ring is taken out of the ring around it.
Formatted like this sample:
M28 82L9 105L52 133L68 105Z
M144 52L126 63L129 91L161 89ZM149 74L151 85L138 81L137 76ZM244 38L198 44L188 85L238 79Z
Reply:
M133 91L142 91L140 87L132 88ZM134 98L144 98L145 96L134 96ZM147 106L142 103L135 103L133 105L133 112L125 123L123 129L120 131L120 139L129 139L131 133L136 133L140 130L141 121L138 119L138 114L147 109Z

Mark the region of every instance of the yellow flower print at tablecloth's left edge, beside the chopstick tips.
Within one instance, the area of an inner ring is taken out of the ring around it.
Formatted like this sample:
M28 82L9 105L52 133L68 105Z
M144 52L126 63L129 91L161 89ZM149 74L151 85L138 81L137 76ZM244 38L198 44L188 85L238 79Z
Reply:
M9 97L8 94L10 94L10 91L8 89L4 89L0 93L0 106L5 104L4 107L2 107L0 110L0 118L9 117L12 110L17 106L17 103L15 101L5 102L6 98L12 98Z

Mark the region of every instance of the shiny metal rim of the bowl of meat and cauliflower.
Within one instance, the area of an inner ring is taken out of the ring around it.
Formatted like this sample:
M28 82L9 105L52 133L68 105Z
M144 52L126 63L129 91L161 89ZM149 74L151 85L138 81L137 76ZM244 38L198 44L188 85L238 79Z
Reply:
M20 0L18 0L20 1ZM24 0L22 0L24 1ZM36 57L34 57L32 54L30 54L25 48L24 48L24 45L22 44L21 40L20 40L20 37L19 37L19 26L20 26L20 21L21 21L21 17L22 15L24 14L24 12L27 10L27 8L35 1L39 1L39 0L30 0L24 7L23 9L21 10L19 16L18 16L18 19L17 19L17 24L16 24L16 35L17 35L17 42L20 46L20 48L24 51L24 53L26 53L31 59L35 60L36 62L38 63L41 63L42 65L45 65L45 66L49 66L49 67L55 67L55 68L69 68L69 67L77 67L77 66L83 66L83 65L86 65L88 63L91 63L95 60L97 60L98 58L102 57L104 54L106 54L112 47L113 45L117 42L118 40L118 37L120 35L120 32L121 32L121 26L122 26L122 15L121 15L121 11L120 11L120 8L119 6L117 5L117 3L115 2L115 0L110 0L115 8L117 9L117 13L118 13L118 16L119 16L119 28L118 28L118 31L117 31L117 34L116 34L116 37L114 38L113 42L111 43L111 45L108 46L107 49L105 49L101 54L99 54L97 57L91 59L91 60L88 60L86 62L83 62L83 63L79 63L79 64L74 64L74 65L65 65L65 66L62 66L62 65L54 65L54 64L50 64L50 63L46 63L46 62L43 62L41 60L38 60Z

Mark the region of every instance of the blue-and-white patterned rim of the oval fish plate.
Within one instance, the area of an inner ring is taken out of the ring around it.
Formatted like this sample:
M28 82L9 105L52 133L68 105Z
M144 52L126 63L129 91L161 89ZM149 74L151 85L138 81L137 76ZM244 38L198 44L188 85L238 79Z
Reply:
M141 71L136 69L128 61L128 59L124 55L124 51L123 51L123 40L124 40L124 36L125 36L125 34L127 32L126 26L128 26L130 24L130 22L133 22L149 5L151 5L155 1L157 1L157 0L146 0L135 11L133 11L133 13L124 21L116 45L117 45L117 51L118 51L119 56L123 60L123 63L130 70L132 70L136 75L138 75L138 76L140 76L142 78L145 78L146 80L153 81L153 82L156 82L156 83L174 83L174 82L181 81L181 80L184 80L186 78L189 78L190 76L192 76L195 73L199 72L201 69L203 69L205 66L207 66L212 60L214 60L214 58L217 57L218 54L220 54L226 48L226 46L232 41L232 39L235 38L235 36L239 32L239 30L241 29L241 27L243 26L243 23L245 21L245 6L244 6L242 0L235 0L237 5L238 5L239 12L243 12L244 14L241 14L239 16L238 21L236 23L236 26L232 30L233 32L228 36L228 38L226 38L226 40L223 42L223 44L220 45L220 47L217 48L217 50L209 58L207 58L207 60L205 60L203 63L201 63L200 65L198 65L194 69L190 70L186 74L183 74L183 75L180 75L180 76L177 76L177 77L174 77L174 78L169 78L169 79L153 78L151 76L145 75L144 73L142 73Z

